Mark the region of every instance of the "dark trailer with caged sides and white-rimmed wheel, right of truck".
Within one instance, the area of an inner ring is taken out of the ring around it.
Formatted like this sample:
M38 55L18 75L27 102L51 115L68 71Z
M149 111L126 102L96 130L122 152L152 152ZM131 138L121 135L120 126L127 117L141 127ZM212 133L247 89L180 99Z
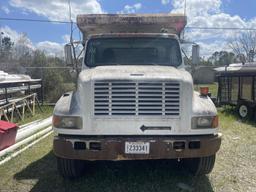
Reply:
M256 63L217 68L219 105L237 107L242 119L256 115Z

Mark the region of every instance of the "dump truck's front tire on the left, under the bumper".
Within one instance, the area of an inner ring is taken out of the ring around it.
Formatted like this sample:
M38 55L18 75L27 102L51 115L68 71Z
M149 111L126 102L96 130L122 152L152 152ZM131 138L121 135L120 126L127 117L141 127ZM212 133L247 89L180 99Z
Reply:
M85 163L81 160L57 157L57 167L64 178L77 178L82 176Z

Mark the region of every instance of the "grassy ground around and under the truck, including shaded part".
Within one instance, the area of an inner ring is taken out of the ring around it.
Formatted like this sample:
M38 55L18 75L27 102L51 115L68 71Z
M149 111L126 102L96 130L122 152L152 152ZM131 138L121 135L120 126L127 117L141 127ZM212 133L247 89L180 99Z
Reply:
M193 177L175 161L92 163L85 176L64 180L57 172L49 136L0 166L0 191L256 191L256 128L232 108L219 109L222 146L213 172ZM189 191L189 190L187 190Z

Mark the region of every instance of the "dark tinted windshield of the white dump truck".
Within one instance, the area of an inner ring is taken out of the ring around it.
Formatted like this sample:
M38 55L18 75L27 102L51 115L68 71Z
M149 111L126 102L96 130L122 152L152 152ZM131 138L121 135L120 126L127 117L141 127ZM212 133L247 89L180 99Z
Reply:
M88 42L85 64L102 65L181 65L178 41L171 38L99 38Z

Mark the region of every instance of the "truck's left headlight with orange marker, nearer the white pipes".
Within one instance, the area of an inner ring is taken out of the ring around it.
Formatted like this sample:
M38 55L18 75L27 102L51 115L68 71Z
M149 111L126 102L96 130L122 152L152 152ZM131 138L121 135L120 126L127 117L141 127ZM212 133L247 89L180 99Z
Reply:
M55 128L81 129L82 119L77 116L53 116L52 124Z

